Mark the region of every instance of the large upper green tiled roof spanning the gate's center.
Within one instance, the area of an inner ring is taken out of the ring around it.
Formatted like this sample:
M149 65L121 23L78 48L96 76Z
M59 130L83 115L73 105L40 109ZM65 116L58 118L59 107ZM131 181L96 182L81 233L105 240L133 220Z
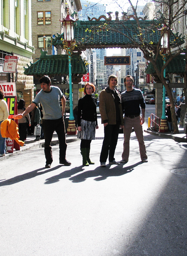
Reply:
M157 29L153 31L150 27L150 22L147 20L140 20L140 25L142 28L142 35L144 36L145 43L150 45L157 45L160 38L160 31ZM108 24L110 28L108 31L105 29L99 30L99 25L103 26L104 24ZM95 27L95 30L94 30ZM97 29L96 29L97 28ZM129 35L129 37L138 40L138 34L140 32L137 28L137 22L135 20L128 21L76 21L74 22L74 39L76 40L78 48L83 46L85 48L110 48L110 47L121 47L127 48L131 46L137 47L130 38L127 36L116 32L112 29L116 29L117 31L121 31L125 35ZM94 32L93 32L94 31ZM55 39L52 39L52 43L54 46L61 45L64 34L55 36ZM173 42L174 36L171 36L171 45L175 45L176 41ZM181 40L179 36L179 40ZM173 42L173 43L172 43Z

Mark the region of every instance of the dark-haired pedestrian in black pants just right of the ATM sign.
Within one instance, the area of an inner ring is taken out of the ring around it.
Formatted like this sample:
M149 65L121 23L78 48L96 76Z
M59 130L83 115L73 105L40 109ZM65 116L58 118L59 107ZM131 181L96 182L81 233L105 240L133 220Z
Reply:
M19 100L18 103L18 114L22 114L25 111L25 101L23 99ZM23 118L18 120L18 127L19 127L19 140L26 140L27 138L27 119L28 125L31 126L30 116L27 114Z

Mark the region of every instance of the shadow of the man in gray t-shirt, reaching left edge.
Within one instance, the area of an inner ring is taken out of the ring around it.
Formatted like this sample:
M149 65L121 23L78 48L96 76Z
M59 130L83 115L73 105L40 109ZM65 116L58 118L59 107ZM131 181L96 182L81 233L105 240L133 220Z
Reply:
M10 178L8 180L4 180L2 182L0 182L0 187L1 186L7 186L7 185L12 185L12 184L15 184L15 183L18 183L18 182L22 182L24 180L28 180L28 179L32 179L36 176L39 176L41 174L45 174L45 173L49 173L50 171L54 171L56 169L58 169L59 167L61 167L62 165L58 165L56 167L53 167L53 168L50 168L50 169L47 169L45 167L43 168L39 168L37 170L34 170L34 171L30 171L29 173L24 173L24 174L21 174L21 175L18 175L16 177L13 177L13 178ZM45 170L45 171L43 171Z

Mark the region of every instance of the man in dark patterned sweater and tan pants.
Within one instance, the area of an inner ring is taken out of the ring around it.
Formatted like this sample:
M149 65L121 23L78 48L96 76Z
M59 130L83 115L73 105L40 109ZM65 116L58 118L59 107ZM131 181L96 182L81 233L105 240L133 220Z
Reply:
M123 113L125 113L123 129L124 143L121 163L126 163L129 160L129 141L132 128L134 128L139 142L141 160L142 162L148 162L142 130L142 124L145 122L145 101L142 92L132 87L133 82L132 76L126 76L124 78L126 91L121 94L122 109ZM142 116L140 117L141 111Z

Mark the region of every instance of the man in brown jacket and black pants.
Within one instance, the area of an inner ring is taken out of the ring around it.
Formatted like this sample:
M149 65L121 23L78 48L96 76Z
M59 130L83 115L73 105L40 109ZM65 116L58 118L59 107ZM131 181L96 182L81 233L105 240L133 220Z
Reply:
M117 145L119 128L123 128L123 112L120 93L115 89L117 76L108 77L108 87L99 95L99 111L101 123L104 124L104 140L102 143L100 163L106 167L107 158L109 164L119 164L114 158Z

